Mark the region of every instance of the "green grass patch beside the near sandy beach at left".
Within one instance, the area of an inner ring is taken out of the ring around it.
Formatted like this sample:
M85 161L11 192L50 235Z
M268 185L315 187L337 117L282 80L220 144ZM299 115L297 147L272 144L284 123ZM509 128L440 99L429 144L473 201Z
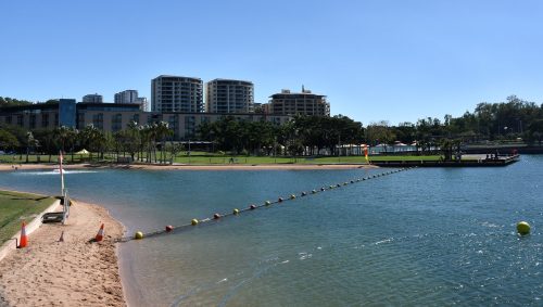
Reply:
M21 230L23 220L31 221L54 201L54 197L0 191L0 244Z

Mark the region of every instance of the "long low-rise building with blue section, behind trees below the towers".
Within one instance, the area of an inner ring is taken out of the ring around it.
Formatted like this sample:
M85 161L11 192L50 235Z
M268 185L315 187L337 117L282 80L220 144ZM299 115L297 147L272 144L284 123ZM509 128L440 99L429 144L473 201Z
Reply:
M224 114L202 112L142 112L135 103L75 103L75 100L60 100L59 103L39 103L2 107L0 125L8 124L25 129L53 129L59 126L84 129L92 126L108 132L126 129L130 121L147 125L166 121L174 131L174 140L194 140L198 127L223 118ZM269 121L283 125L290 116L277 114L230 113L237 119Z

